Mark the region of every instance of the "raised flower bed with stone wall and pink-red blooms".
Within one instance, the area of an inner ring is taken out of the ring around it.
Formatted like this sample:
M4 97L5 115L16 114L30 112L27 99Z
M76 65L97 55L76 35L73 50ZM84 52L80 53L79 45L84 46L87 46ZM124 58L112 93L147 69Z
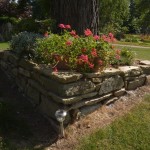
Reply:
M70 29L69 26L63 28ZM65 31L63 35L50 37L47 34L35 44L36 51L34 47L28 51L17 51L18 53L14 53L15 49L0 52L1 68L49 119L55 120L56 110L64 109L68 112L65 120L68 124L104 104L118 100L126 90L134 90L149 79L149 62L117 69L110 66L112 63L123 62L121 53L123 56L128 54L128 51L115 50L106 41L106 38L111 39L111 34L102 38L85 30L85 35L86 37L76 37L75 31ZM60 38L60 41L53 38ZM60 49L54 50L56 45ZM100 70L95 72L97 58ZM131 61L130 57L127 59ZM61 61L65 61L69 70L57 68Z

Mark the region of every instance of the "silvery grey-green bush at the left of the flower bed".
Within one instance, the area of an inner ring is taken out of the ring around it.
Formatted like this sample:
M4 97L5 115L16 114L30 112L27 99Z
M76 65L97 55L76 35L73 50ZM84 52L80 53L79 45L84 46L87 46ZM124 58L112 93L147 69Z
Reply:
M33 58L35 54L35 42L36 39L42 38L40 34L21 32L12 37L10 41L10 48L19 57L25 57L27 59Z

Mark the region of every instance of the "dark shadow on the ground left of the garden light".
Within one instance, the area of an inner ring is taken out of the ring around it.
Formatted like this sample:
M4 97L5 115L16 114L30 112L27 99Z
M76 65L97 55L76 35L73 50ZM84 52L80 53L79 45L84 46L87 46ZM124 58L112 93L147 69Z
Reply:
M42 150L58 133L0 70L0 150Z

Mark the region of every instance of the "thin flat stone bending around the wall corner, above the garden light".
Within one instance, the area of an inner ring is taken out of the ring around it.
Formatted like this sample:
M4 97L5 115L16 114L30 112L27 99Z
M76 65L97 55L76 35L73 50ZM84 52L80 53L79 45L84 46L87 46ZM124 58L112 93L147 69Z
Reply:
M85 98L91 98L97 95L97 92L92 92L92 93L87 93L87 94L83 94L83 95L79 95L79 96L75 96L75 97L69 97L69 98L62 98L59 97L57 95L55 95L52 92L48 92L48 96L51 97L51 99L53 99L54 101L58 102L58 103L63 103L63 104L73 104L76 103L82 99Z

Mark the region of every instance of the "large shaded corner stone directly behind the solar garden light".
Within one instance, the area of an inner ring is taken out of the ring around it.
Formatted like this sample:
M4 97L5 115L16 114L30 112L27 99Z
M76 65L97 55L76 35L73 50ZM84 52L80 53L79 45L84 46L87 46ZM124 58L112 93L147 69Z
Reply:
M55 112L58 109L64 109L64 106L60 103L55 103L53 100L46 98L45 96L41 96L41 103L39 105L39 110L42 111L46 116L51 117L56 120ZM66 116L65 123L69 123L70 115L69 113Z

